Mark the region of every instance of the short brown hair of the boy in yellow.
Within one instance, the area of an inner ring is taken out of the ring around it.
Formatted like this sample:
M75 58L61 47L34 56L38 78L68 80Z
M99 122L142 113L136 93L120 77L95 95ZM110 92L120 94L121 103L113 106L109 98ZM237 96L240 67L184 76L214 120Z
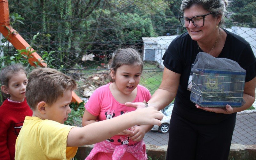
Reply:
M29 107L36 110L39 102L51 106L67 90L76 89L76 81L52 68L35 68L31 71L26 88Z

